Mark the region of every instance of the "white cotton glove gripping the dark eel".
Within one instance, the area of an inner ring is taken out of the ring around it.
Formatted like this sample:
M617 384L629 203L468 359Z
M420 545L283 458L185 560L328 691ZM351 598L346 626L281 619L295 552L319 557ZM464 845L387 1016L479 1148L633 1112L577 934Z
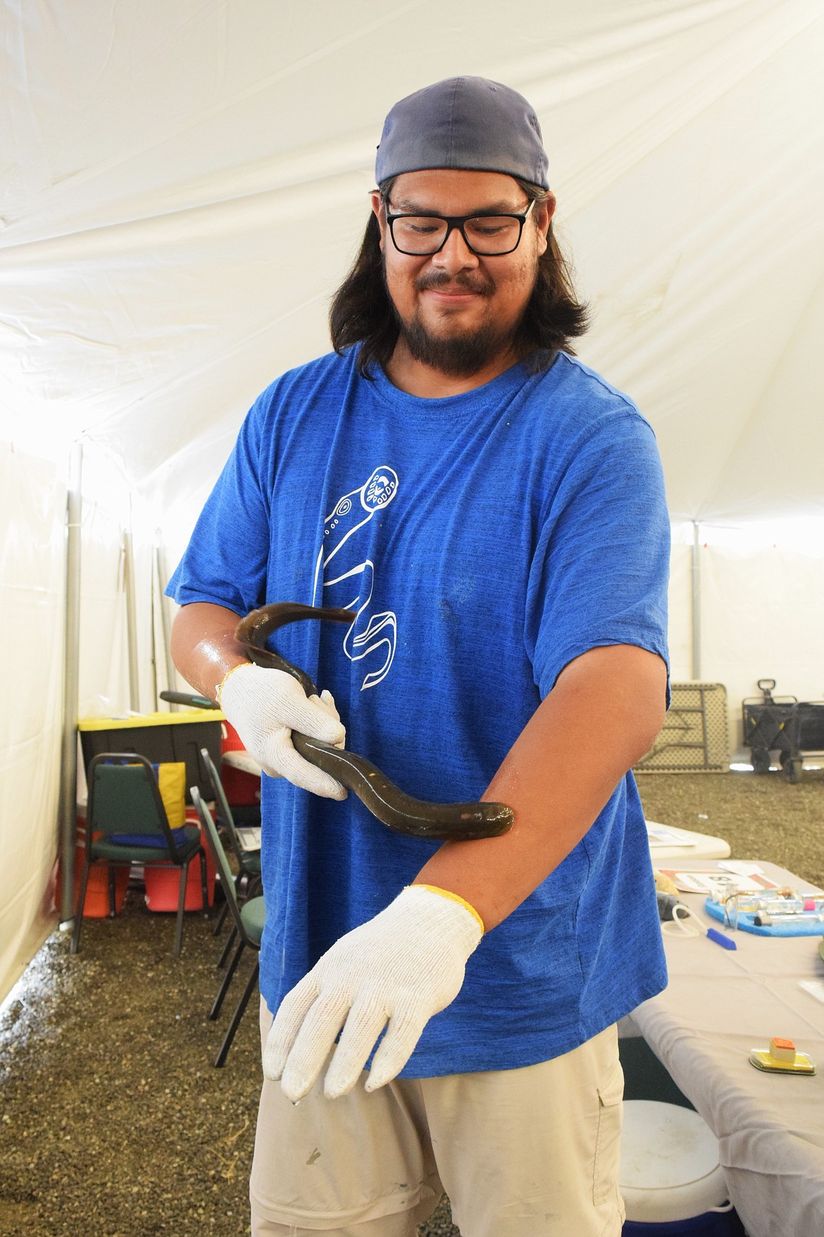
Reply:
M217 689L217 703L240 735L246 751L269 777L284 777L294 785L325 799L345 799L346 789L299 756L292 731L342 747L346 730L331 693L308 696L285 670L252 662L231 670Z

